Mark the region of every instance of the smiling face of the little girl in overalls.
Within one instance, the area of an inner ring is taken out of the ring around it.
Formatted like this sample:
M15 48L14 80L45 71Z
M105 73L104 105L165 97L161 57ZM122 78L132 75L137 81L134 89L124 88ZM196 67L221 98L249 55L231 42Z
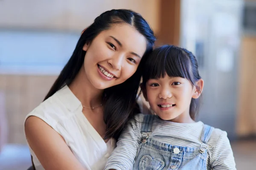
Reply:
M179 123L191 120L189 116L191 99L200 96L188 79L168 75L160 79L149 79L143 94L157 116L163 120Z

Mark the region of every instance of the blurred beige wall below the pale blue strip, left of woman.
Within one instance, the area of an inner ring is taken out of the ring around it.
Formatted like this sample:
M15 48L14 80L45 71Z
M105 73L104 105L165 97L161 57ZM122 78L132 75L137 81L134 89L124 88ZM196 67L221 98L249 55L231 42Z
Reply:
M55 79L55 76L0 75L0 91L6 97L9 143L26 143L25 116L43 101Z

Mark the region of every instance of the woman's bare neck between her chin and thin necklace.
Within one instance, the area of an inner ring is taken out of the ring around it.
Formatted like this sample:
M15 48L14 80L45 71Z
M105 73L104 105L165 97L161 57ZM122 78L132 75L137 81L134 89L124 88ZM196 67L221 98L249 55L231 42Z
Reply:
M85 107L97 107L102 104L102 94L104 90L96 89L90 81L82 67L73 82L69 85L70 90L80 100Z

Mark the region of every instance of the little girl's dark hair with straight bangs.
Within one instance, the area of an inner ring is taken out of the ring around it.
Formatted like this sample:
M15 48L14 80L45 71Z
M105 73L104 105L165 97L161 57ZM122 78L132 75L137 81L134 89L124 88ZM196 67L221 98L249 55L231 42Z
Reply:
M154 49L145 63L142 84L145 87L149 79L164 78L166 74L169 77L186 78L195 86L201 79L195 56L190 51L174 45L163 45ZM191 99L189 114L193 120L199 110L199 100L200 97Z

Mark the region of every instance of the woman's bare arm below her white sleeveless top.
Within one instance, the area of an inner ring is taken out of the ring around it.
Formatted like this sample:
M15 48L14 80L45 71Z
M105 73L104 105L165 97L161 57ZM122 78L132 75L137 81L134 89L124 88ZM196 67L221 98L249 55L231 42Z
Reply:
M85 170L62 136L42 119L25 122L26 139L45 170Z

